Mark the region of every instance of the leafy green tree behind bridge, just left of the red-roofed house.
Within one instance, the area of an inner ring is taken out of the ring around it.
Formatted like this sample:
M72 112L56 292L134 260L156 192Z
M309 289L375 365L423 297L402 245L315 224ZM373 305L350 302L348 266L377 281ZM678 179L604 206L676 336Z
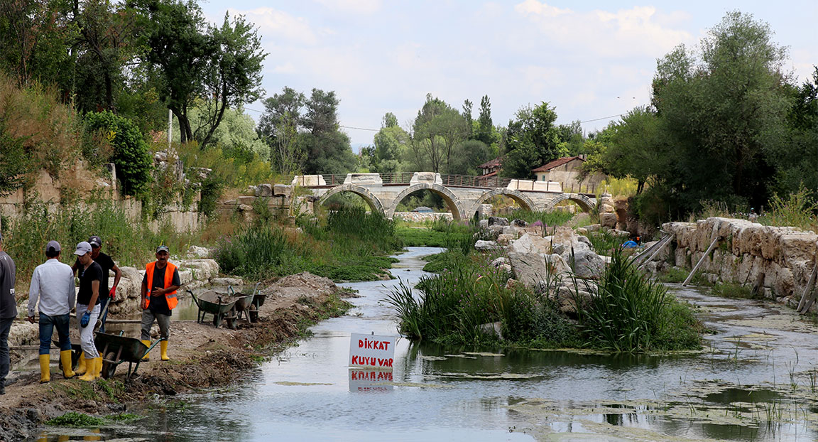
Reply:
M511 178L532 178L532 169L564 156L554 122L557 114L548 103L524 107L510 120L506 131L506 157L501 175Z

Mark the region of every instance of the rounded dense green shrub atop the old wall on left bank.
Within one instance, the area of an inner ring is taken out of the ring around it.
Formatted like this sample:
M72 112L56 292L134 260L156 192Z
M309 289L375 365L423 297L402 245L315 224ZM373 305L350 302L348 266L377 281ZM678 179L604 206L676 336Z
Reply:
M142 195L151 186L153 158L142 133L133 121L110 110L88 112L85 127L89 132L101 131L114 147L116 174L124 195Z

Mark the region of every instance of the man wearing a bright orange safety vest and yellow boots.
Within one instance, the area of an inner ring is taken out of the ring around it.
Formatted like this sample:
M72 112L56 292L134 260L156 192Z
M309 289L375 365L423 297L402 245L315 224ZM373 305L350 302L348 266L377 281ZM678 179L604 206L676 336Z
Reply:
M170 360L170 315L178 303L176 291L182 286L179 270L176 265L168 262L168 257L168 246L157 247L156 260L145 266L145 277L142 279L142 344L151 346L151 326L155 319L159 324L163 361ZM148 354L142 359L149 360Z

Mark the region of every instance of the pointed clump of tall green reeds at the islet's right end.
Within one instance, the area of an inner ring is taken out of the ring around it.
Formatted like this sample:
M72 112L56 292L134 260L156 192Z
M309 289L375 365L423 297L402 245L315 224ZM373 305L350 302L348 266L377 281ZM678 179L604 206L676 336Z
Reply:
M675 327L696 323L689 310L677 306L667 289L641 272L621 249L614 251L596 293L590 302L576 303L589 345L618 352L699 345L693 327Z

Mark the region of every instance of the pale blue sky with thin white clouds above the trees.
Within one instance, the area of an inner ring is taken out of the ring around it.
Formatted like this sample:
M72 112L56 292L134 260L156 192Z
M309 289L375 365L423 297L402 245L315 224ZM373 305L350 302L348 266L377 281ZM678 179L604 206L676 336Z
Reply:
M818 65L818 2L516 0L210 0L213 22L241 14L262 37L266 96L285 86L335 91L353 149L370 145L386 112L403 127L427 93L495 125L546 101L557 123L604 129L612 115L649 103L656 61L696 47L728 11L753 14L789 47L784 69L803 83ZM246 106L258 120L260 101ZM374 130L366 130L374 129Z

